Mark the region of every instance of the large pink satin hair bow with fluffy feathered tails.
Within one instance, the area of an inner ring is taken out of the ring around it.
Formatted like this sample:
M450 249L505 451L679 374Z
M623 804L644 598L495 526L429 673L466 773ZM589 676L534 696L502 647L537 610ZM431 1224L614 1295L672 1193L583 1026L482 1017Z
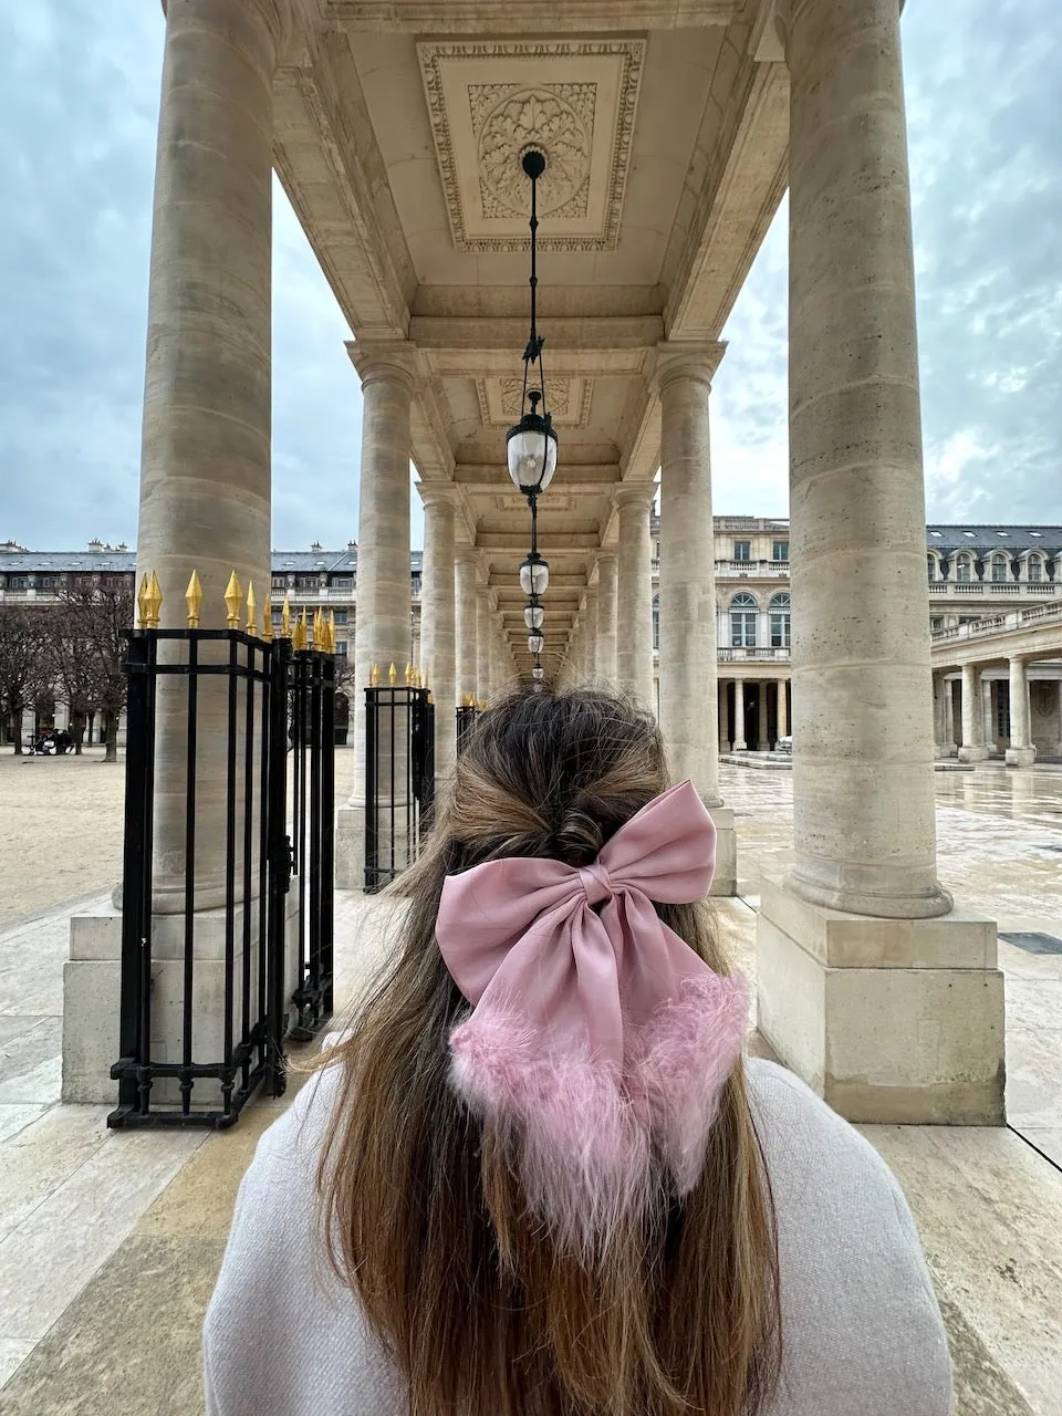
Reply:
M474 1004L452 1080L514 1147L528 1204L592 1252L670 1182L700 1178L748 991L653 901L702 899L715 827L691 782L633 816L588 867L487 861L443 884L436 937Z

